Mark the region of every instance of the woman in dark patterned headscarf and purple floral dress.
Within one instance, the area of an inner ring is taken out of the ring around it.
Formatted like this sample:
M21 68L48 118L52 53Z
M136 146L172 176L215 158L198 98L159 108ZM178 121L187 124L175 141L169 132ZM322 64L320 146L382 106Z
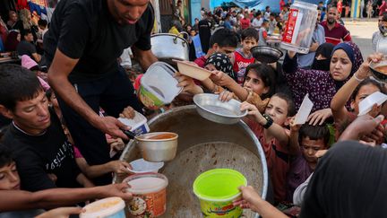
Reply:
M309 123L316 120L323 123L331 117L331 99L362 63L360 49L353 42L342 42L333 48L330 71L301 69L297 65L297 55L292 58L286 55L283 71L297 109L307 93L314 102L314 113L309 117Z

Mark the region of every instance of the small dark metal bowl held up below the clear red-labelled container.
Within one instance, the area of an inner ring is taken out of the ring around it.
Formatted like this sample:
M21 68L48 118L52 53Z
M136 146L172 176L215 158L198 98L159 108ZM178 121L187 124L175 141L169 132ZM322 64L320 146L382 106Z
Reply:
M271 48L268 46L255 46L250 49L255 60L262 63L274 63L280 60L283 53L278 48Z

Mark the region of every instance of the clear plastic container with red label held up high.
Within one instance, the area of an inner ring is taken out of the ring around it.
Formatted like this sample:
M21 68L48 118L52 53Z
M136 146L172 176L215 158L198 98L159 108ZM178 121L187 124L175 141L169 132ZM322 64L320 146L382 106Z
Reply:
M307 54L317 21L317 5L295 1L290 6L281 48Z

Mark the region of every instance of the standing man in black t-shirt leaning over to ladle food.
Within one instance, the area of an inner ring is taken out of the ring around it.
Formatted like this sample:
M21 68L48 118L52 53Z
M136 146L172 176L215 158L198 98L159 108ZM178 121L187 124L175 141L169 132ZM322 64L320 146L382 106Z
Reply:
M90 165L110 161L105 133L127 138L121 131L127 126L116 119L119 113L128 105L142 111L117 58L131 47L142 68L156 62L150 51L153 24L149 0L66 0L56 5L44 39L48 80L74 143ZM99 107L112 117L99 117ZM96 182L110 179L107 175Z

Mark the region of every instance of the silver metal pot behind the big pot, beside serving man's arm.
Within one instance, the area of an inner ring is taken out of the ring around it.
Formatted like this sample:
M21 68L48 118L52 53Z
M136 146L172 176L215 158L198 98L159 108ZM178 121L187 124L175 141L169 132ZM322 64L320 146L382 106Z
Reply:
M189 60L188 42L175 34L159 33L150 36L151 51L161 60Z

